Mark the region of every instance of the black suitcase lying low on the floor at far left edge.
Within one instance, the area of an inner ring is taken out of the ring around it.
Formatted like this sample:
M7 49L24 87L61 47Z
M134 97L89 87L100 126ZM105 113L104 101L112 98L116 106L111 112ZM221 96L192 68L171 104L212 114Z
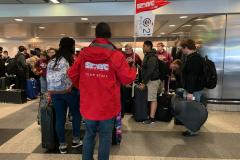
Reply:
M0 102L22 104L27 102L27 97L20 89L0 90Z

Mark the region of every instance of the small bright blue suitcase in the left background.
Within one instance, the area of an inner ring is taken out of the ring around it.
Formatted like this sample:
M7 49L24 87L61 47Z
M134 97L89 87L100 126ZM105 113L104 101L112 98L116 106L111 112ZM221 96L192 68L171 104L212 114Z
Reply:
M27 80L26 94L30 99L35 99L38 96L37 81L34 78Z

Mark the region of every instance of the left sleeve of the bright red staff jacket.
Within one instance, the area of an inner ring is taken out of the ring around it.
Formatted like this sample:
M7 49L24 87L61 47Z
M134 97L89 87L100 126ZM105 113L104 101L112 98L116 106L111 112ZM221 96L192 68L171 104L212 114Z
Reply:
M68 69L68 77L71 79L73 85L79 88L81 56L79 55L73 65Z

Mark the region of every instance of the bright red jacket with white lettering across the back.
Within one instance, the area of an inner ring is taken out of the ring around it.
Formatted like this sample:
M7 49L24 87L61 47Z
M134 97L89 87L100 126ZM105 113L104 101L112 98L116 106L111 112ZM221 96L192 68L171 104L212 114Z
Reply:
M124 55L107 39L97 38L80 52L68 76L80 89L83 117L108 120L120 112L120 84L132 83L136 70L129 67Z

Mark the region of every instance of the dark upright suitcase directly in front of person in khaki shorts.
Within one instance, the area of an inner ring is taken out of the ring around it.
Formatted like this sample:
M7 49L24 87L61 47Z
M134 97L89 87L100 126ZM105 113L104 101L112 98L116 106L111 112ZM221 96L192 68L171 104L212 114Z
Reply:
M135 97L134 97L134 112L133 117L135 121L142 122L148 119L148 91L147 88L145 90L140 90L137 86L134 88Z

